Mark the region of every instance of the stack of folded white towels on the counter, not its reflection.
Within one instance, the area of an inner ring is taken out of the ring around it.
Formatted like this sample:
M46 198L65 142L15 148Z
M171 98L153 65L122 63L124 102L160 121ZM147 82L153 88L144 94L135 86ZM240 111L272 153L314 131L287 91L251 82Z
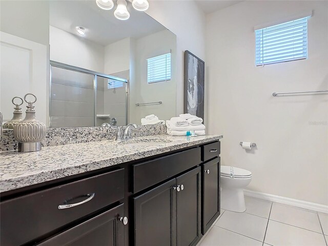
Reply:
M180 114L166 121L167 134L171 136L186 136L188 131L195 131L198 136L205 135L203 119L191 114Z

